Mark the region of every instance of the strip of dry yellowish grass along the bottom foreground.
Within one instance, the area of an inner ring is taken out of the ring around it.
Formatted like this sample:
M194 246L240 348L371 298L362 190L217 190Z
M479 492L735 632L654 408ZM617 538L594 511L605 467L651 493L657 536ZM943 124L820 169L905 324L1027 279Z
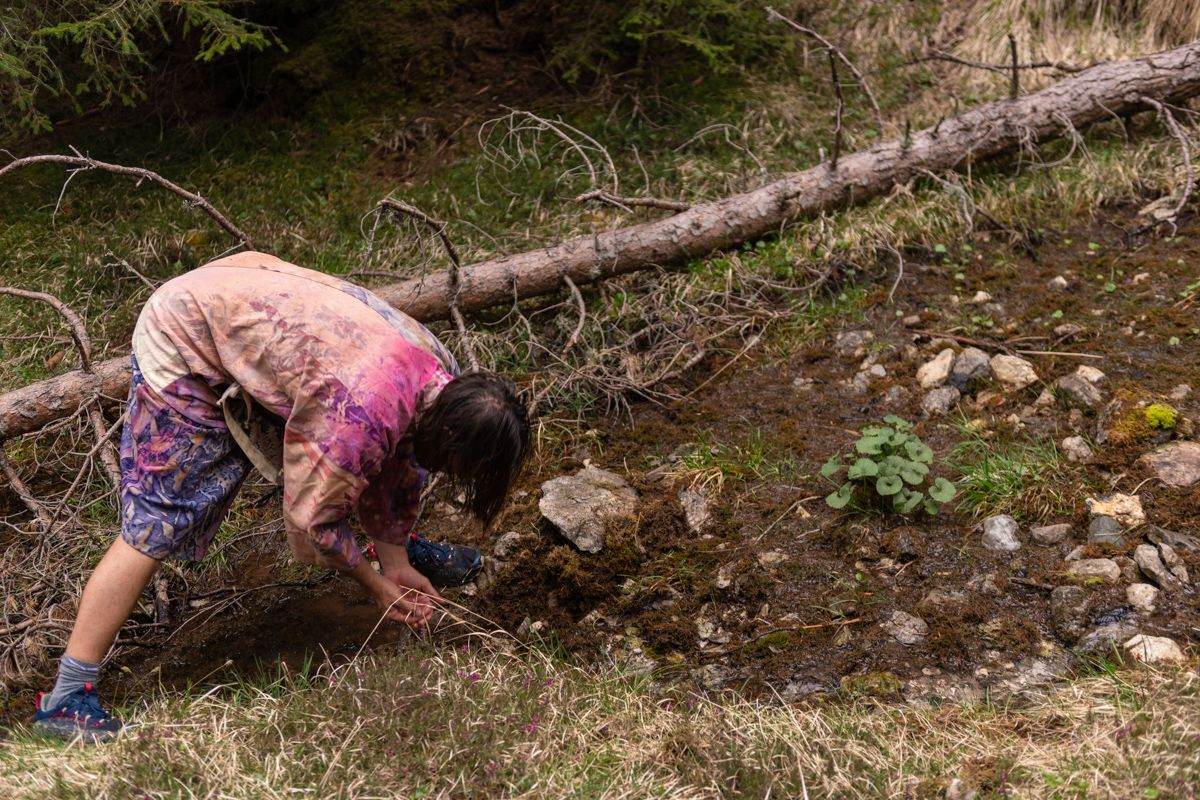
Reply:
M1195 796L1200 679L1109 672L1020 708L656 690L497 639L164 696L101 747L0 745L6 798ZM1157 794L1156 794L1157 793Z

